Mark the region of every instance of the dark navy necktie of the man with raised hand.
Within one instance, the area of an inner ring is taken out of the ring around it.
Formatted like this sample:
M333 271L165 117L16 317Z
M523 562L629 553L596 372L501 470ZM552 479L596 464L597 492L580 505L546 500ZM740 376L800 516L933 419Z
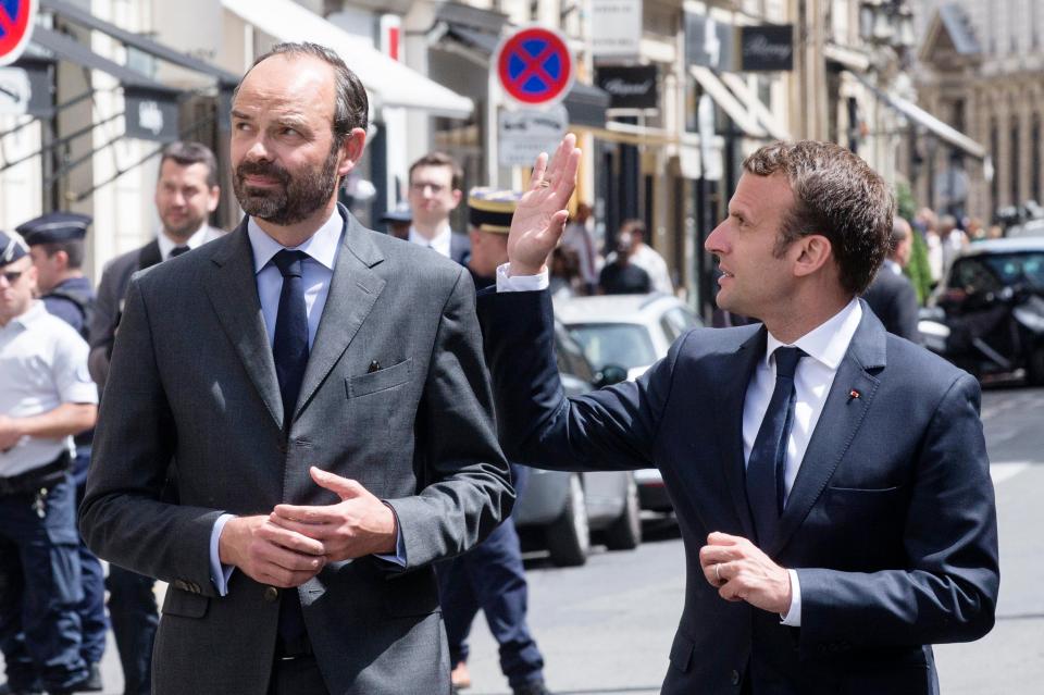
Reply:
M794 371L805 356L799 348L775 350L775 389L747 461L747 501L758 544L771 545L783 514L786 440L794 423Z

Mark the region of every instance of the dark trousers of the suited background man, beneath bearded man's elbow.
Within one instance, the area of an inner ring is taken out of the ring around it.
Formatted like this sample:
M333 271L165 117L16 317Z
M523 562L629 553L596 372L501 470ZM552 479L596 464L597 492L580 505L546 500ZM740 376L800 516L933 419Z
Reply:
M152 690L152 643L160 616L156 580L116 564L109 566L109 617L123 667L125 695L149 695Z

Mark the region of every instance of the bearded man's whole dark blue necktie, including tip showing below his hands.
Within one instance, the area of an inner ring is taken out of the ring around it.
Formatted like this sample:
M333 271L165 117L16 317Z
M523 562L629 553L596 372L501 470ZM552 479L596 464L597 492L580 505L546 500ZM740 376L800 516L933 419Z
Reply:
M308 365L308 313L304 308L304 283L301 280L301 265L306 258L303 251L283 249L272 259L283 274L272 357L283 395L284 435L290 431L297 396L301 393L301 381ZM301 615L297 589L283 589L279 598L279 637L288 645L299 641L303 634L304 617Z

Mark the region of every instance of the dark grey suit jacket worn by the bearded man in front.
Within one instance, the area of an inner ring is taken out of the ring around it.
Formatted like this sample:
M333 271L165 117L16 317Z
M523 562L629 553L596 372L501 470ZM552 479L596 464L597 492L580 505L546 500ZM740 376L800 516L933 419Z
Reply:
M236 571L219 597L211 530L222 512L338 501L312 464L386 500L407 558L403 571L332 563L296 589L330 692L449 692L431 562L478 543L513 501L474 289L456 263L341 214L288 439L245 222L130 282L80 529L99 556L171 583L159 695L266 692L278 593ZM172 458L177 505L160 495Z

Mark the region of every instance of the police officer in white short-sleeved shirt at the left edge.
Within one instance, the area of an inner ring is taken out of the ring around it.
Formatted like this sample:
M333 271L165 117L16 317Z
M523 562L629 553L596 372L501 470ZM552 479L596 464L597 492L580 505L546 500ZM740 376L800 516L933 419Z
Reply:
M72 693L88 679L71 435L94 426L87 344L34 299L36 269L0 232L0 650L12 693ZM17 566L21 571L10 571Z

